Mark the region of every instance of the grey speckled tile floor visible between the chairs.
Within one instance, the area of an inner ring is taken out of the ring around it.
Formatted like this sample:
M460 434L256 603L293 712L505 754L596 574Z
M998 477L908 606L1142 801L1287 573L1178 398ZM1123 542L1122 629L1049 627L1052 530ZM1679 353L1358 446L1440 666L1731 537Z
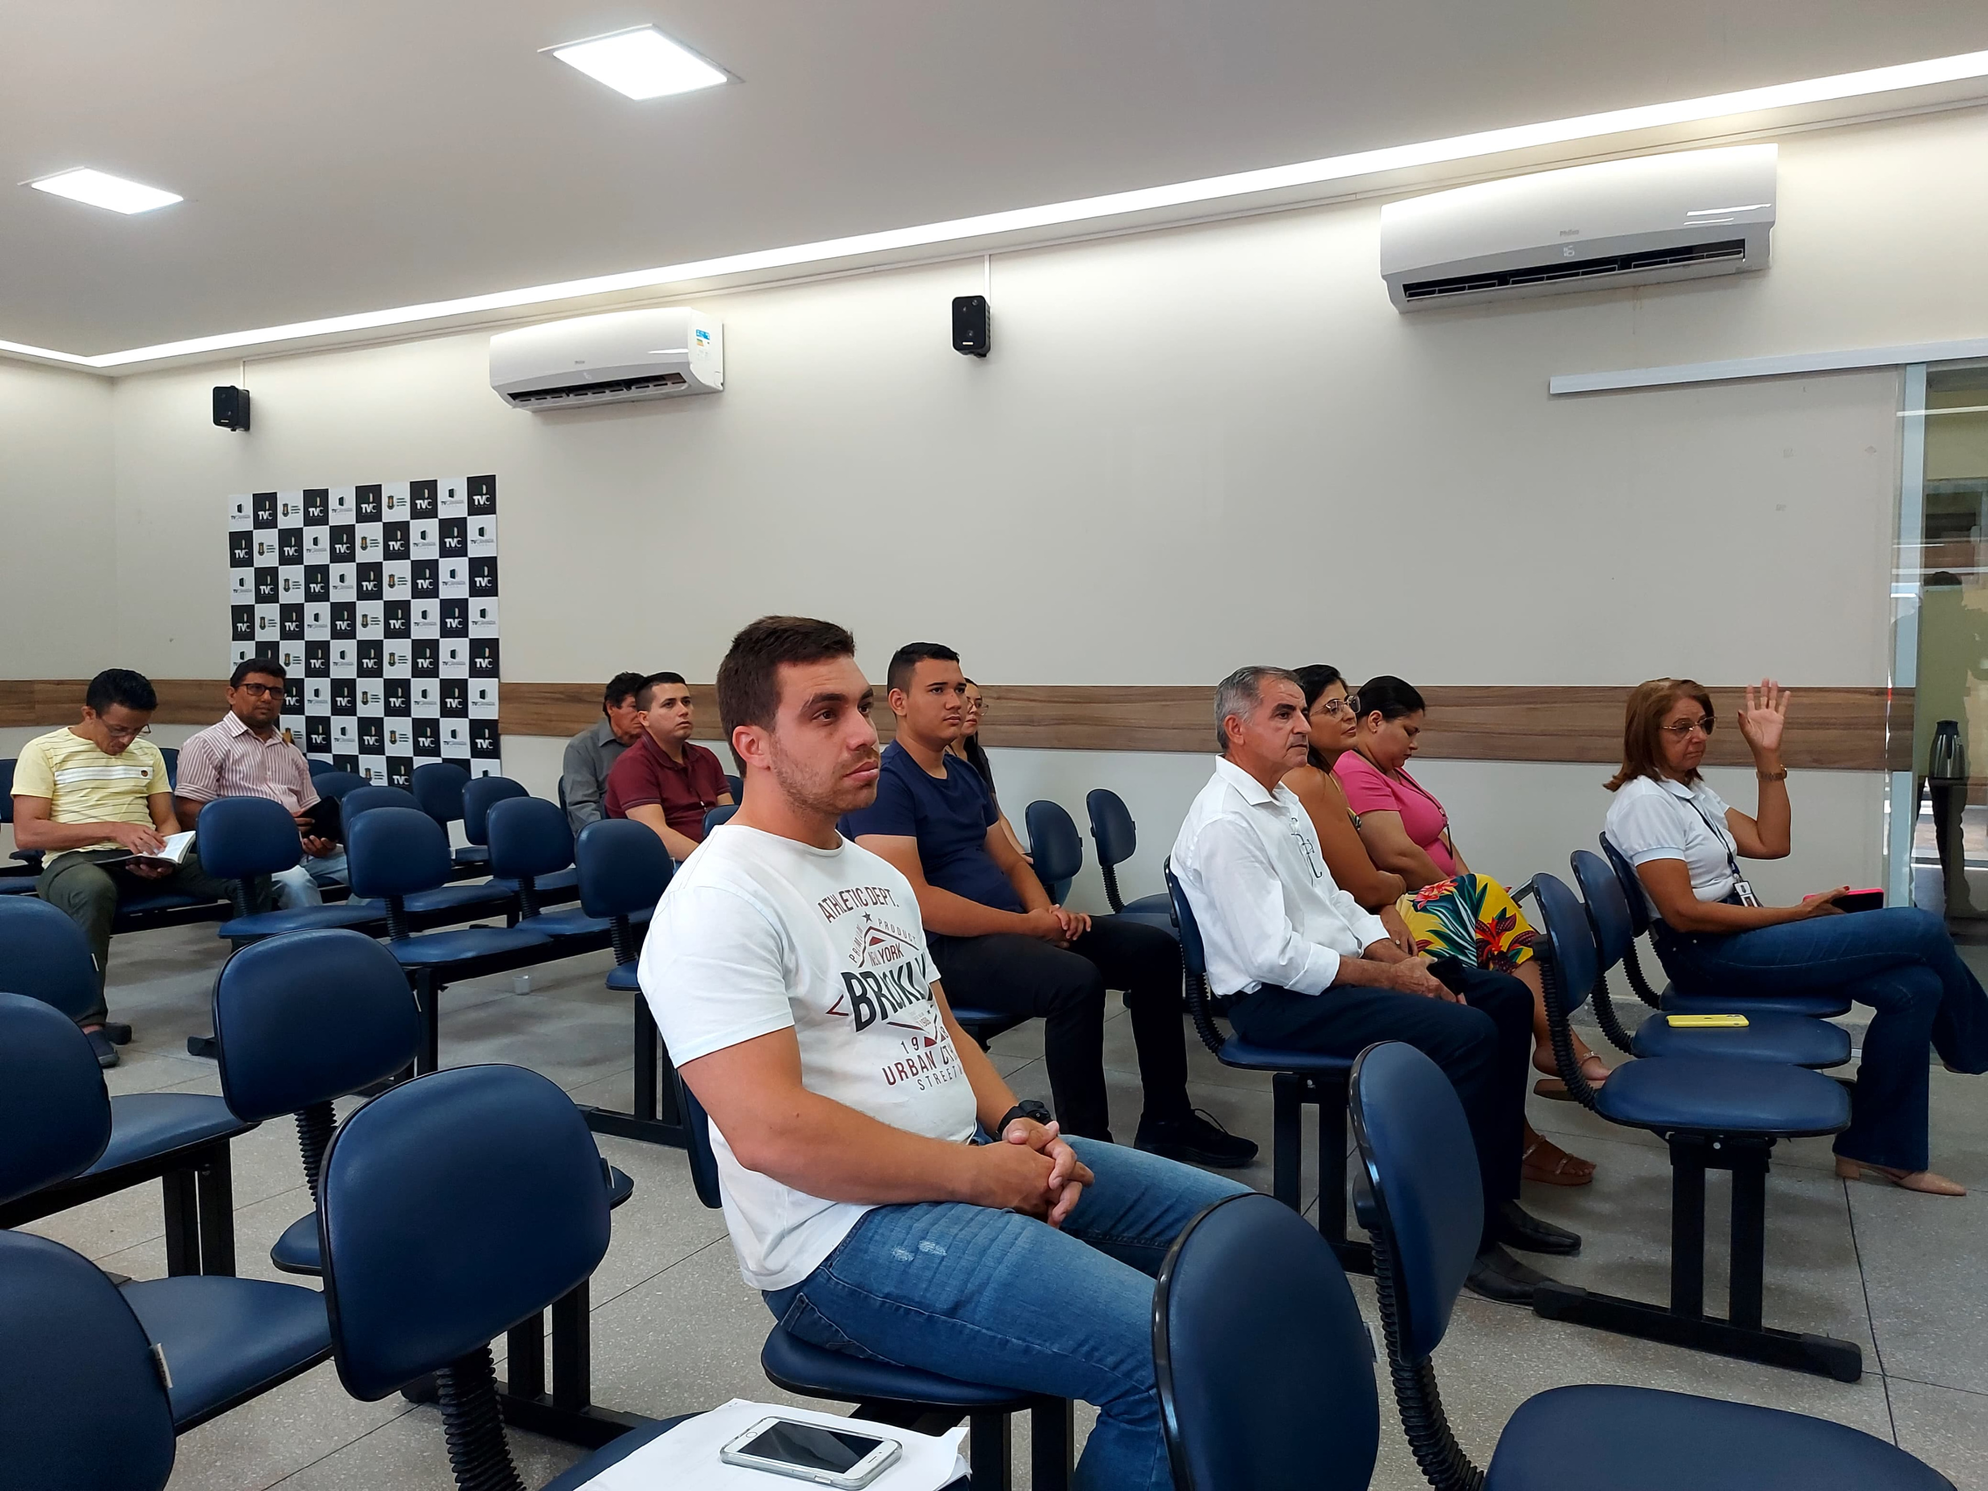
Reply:
M1970 958L1984 952L1968 948ZM207 1030L219 964L209 926L117 938L111 1008L137 1028L137 1040L109 1074L111 1091L219 1091L215 1068L185 1054L185 1038ZM626 1002L600 986L606 968L606 954L594 954L535 970L527 996L511 992L509 976L449 990L443 1062L519 1062L553 1076L580 1101L624 1105ZM994 1056L1020 1093L1048 1097L1040 1026L1000 1038ZM1189 1060L1195 1101L1264 1143L1264 1159L1242 1179L1268 1189L1268 1081L1217 1066L1193 1040ZM1129 1129L1139 1091L1123 1012L1107 1026L1105 1062L1119 1123ZM1964 1201L1845 1185L1833 1177L1823 1141L1791 1143L1775 1155L1769 1320L1861 1342L1863 1382L1845 1386L1606 1336L1465 1294L1437 1356L1443 1400L1463 1445L1483 1463L1499 1425L1527 1396L1559 1384L1624 1382L1853 1423L1924 1457L1956 1487L1988 1487L1988 1304L1978 1282L1988 1237L1988 1085L1936 1070L1932 1091L1934 1163L1972 1187ZM1586 1189L1529 1189L1535 1211L1586 1239L1582 1256L1559 1272L1662 1298L1670 1207L1662 1145L1571 1103L1533 1099L1533 1123L1600 1167ZM738 1278L724 1223L696 1203L684 1157L610 1137L600 1139L600 1151L636 1179L636 1191L614 1215L614 1242L592 1286L594 1400L648 1415L728 1398L779 1402L783 1394L759 1372L765 1308ZM241 1270L274 1276L268 1244L310 1207L288 1125L268 1123L235 1143L235 1203ZM1314 1165L1306 1171L1306 1205L1318 1205ZM1716 1181L1714 1237L1724 1229L1724 1185ZM165 1270L153 1187L50 1217L34 1231L117 1272L145 1278ZM1714 1246L1714 1300L1720 1254ZM1354 1292L1372 1318L1370 1280L1356 1278ZM1079 1433L1089 1417L1079 1408ZM1024 1433L1018 1425L1020 1463ZM513 1433L513 1447L533 1487L579 1455L529 1433ZM1423 1485L1386 1400L1374 1485ZM171 1491L262 1487L447 1491L439 1417L400 1398L354 1402L326 1364L179 1441Z

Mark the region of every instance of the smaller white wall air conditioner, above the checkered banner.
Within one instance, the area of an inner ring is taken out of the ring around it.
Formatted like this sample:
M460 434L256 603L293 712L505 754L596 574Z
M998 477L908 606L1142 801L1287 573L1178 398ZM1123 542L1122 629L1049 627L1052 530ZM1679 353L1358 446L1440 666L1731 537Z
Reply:
M491 388L517 410L716 394L724 386L724 326L700 310L616 310L491 338Z

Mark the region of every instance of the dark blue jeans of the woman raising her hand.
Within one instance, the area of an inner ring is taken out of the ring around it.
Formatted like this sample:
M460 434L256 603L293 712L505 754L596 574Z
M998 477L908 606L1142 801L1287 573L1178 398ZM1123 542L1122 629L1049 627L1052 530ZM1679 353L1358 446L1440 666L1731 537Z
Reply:
M1835 1151L1867 1165L1922 1171L1926 1044L1946 1066L1988 1072L1988 992L1928 911L1885 907L1726 936L1652 930L1664 972L1686 994L1835 990L1873 1010Z

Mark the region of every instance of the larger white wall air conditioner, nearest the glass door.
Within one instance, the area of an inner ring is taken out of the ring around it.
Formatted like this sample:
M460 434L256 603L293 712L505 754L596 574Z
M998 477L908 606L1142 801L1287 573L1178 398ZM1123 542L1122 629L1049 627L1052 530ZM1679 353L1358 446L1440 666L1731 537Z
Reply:
M1400 310L1767 266L1775 147L1642 155L1439 191L1380 209Z

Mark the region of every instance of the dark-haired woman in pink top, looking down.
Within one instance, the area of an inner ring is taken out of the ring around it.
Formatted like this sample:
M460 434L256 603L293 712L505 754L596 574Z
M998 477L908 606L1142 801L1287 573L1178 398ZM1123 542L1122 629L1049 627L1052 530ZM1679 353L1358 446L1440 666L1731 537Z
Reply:
M1332 763L1332 775L1346 791L1346 805L1360 817L1360 841L1368 857L1378 869L1400 875L1409 893L1469 875L1471 867L1463 863L1449 833L1449 813L1427 787L1408 775L1408 757L1415 753L1427 710L1421 694L1413 684L1382 674L1362 684L1358 698L1354 747ZM1525 962L1513 972L1533 988L1533 1066L1547 1074L1533 1091L1541 1097L1567 1097L1567 1083L1553 1076L1539 968ZM1576 1048L1580 1074L1592 1083L1606 1081L1608 1068L1600 1058L1578 1040Z

